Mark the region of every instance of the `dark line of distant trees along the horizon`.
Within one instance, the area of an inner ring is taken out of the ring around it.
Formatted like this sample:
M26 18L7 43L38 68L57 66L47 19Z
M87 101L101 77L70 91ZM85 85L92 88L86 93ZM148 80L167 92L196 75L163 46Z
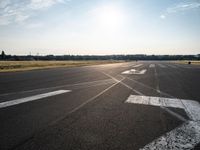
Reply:
M0 60L27 61L27 60L200 60L198 55L6 55L1 52Z

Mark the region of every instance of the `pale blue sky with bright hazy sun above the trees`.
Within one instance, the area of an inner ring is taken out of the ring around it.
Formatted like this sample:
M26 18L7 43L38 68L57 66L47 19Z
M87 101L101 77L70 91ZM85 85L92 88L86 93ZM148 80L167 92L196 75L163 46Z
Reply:
M200 0L0 0L0 50L200 54Z

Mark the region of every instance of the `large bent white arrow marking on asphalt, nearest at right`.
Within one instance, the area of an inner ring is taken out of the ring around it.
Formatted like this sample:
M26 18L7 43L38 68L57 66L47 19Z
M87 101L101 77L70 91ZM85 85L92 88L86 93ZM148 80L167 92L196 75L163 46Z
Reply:
M141 150L189 150L200 142L200 104L193 100L130 95L126 103L184 109L190 121L154 140Z

